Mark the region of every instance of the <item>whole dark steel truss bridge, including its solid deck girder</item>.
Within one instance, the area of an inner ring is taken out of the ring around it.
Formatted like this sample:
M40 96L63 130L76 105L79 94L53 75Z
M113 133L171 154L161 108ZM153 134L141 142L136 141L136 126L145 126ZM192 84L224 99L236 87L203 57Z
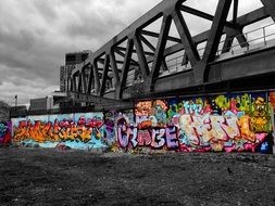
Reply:
M275 1L259 0L261 8L242 15L238 0L218 0L213 15L189 7L189 1L163 0L91 53L73 70L71 96L112 104L246 88L274 89ZM209 21L210 28L191 35L186 14ZM243 33L245 27L266 18L273 23ZM154 31L157 22L160 29ZM177 37L171 35L172 26Z

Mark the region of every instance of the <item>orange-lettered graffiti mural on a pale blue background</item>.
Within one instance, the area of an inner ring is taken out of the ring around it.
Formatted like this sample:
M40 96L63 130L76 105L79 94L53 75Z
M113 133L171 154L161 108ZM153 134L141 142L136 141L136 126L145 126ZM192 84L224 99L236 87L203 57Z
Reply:
M29 116L13 119L13 142L41 147L105 147L102 113Z

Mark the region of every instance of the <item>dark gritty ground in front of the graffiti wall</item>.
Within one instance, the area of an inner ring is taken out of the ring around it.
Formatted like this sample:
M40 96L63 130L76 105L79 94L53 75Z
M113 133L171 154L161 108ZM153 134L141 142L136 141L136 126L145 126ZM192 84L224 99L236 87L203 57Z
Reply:
M0 149L0 205L275 205L275 156Z

